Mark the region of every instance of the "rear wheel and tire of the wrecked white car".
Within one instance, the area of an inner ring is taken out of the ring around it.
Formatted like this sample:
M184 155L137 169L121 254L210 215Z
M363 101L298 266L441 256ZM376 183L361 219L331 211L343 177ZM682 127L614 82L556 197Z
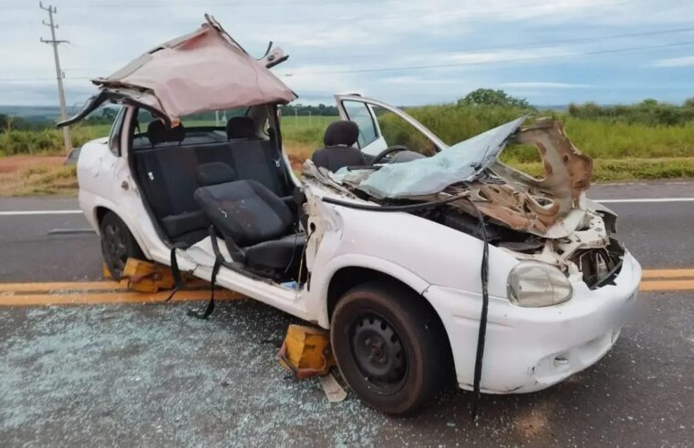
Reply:
M112 211L107 212L99 224L101 255L114 280L120 280L129 258L143 259L142 250L128 226Z

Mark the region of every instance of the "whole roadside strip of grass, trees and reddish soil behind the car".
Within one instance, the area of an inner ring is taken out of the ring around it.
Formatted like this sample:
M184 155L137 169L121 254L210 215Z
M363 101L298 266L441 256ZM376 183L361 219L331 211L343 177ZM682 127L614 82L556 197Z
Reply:
M115 113L112 109L104 110L102 115L71 128L75 148L108 135ZM694 178L694 98L682 105L647 99L635 105L585 103L570 105L565 110L538 110L522 98L499 90L479 89L457 102L406 110L448 144L523 115L555 117L564 123L576 147L594 159L596 181ZM293 167L299 168L322 146L326 126L338 119L337 109L293 105L283 107L282 114L285 148ZM394 122L395 117L379 117L387 139L415 143L418 136L389 126L391 118ZM30 167L27 156L33 160ZM0 115L0 195L74 192L75 170L57 162L63 157L61 131L47 124L40 126ZM535 148L508 148L502 159L531 175L543 172Z

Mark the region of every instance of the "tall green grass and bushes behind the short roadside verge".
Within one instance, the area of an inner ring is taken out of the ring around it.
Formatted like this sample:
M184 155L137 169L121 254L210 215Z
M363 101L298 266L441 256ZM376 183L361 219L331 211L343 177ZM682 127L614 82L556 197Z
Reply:
M461 107L455 104L410 107L407 112L447 144L454 144L487 129L502 125L528 111L509 107ZM547 113L534 113L548 115ZM572 117L554 114L565 124L565 130L576 147L592 158L692 158L694 157L694 122L675 126L647 125L604 118ZM310 157L322 145L327 125L338 117L283 117L282 136L290 153L297 159ZM403 128L392 114L379 117L381 128L391 142L410 142L412 148L423 148L421 136ZM105 137L108 126L82 126L71 129L73 146ZM57 129L40 131L5 131L0 134L0 155L63 155L63 136ZM538 160L535 148L514 147L505 151L504 160L530 163Z

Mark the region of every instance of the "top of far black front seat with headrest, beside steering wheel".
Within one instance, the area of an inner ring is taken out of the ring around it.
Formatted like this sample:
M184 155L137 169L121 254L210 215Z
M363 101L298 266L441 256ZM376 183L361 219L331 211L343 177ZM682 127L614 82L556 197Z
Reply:
M324 148L316 149L311 160L318 168L337 171L339 168L364 166L367 160L353 145L357 143L359 127L354 121L330 123L323 137Z

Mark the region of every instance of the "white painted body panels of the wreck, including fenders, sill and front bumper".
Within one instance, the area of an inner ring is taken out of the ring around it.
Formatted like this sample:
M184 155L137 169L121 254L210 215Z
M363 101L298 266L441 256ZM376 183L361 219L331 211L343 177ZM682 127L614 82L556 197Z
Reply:
M134 113L135 107L123 108L126 127ZM105 210L116 213L149 260L169 265L171 248L152 224L130 173L128 137L114 133L113 138L120 138L120 154L110 150L109 138L82 148L80 207L97 230ZM482 304L482 240L405 212L376 213L327 204L323 199L373 205L328 188L316 178L301 181L291 176L305 190L309 227L315 233L306 248L310 289L304 285L294 290L224 267L217 283L328 329L328 290L337 273L378 271L430 303L448 334L458 384L471 390ZM229 257L225 249L223 253ZM211 280L214 254L209 238L178 250L178 257L181 270ZM523 308L508 299L507 280L519 262L509 250L489 247L490 301L482 392L538 391L584 370L615 344L625 316L636 305L641 268L628 252L613 284L590 290L580 275L570 276L571 299L543 308Z

